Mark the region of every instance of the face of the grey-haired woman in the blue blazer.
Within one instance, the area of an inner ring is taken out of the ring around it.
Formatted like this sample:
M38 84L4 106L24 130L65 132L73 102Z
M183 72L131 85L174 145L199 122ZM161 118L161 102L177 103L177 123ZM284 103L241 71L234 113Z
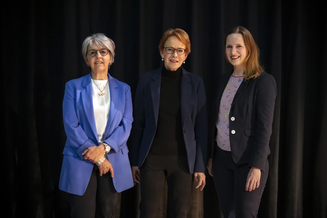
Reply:
M95 49L95 50L101 50L103 49L103 46L90 46L88 47L88 50L90 49ZM106 48L104 48L106 49ZM108 72L108 67L110 64L110 52L108 51L107 55L102 56L100 54L101 51L96 51L96 54L94 57L91 57L89 54L86 56L86 64L90 65L91 71L92 72L98 72L98 73L107 73Z

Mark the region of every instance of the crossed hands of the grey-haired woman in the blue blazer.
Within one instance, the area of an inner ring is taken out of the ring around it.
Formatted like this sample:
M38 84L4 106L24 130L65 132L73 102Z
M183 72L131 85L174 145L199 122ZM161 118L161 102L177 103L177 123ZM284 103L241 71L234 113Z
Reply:
M85 149L83 151L82 155L84 155L85 160L88 159L88 160L91 160L93 163L95 163L105 153L106 152L104 150L104 145L100 144L99 146L91 146L91 147ZM99 167L99 171L100 171L100 176L102 176L102 174L106 174L107 172L110 171L111 177L113 177L113 168L108 159L103 161L98 167Z

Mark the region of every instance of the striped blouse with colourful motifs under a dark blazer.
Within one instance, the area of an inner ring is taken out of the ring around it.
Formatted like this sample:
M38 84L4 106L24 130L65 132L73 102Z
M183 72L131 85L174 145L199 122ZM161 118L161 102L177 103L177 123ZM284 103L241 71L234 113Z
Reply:
M230 151L230 137L229 137L229 113L232 107L233 98L235 93L238 90L238 87L241 85L243 81L242 76L234 76L233 74L228 80L228 83L225 87L223 95L220 100L220 106L218 111L218 120L216 122L217 127L217 136L216 142L217 145L225 150Z

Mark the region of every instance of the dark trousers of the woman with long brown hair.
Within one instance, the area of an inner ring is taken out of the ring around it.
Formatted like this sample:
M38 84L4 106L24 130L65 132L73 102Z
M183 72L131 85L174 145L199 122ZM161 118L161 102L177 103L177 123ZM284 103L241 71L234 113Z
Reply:
M250 167L248 164L235 164L231 151L215 146L212 170L221 210L224 218L257 217L262 193L268 177L268 159L264 171L261 170L259 188L245 191Z

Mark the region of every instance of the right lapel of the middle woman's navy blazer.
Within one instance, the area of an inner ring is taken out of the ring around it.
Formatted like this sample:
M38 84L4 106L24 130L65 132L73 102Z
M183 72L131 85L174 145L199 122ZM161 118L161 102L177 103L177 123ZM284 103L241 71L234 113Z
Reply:
M181 121L182 127L186 120L186 115L188 111L188 106L190 102L192 87L189 84L191 82L188 72L182 68L182 77L181 77Z

